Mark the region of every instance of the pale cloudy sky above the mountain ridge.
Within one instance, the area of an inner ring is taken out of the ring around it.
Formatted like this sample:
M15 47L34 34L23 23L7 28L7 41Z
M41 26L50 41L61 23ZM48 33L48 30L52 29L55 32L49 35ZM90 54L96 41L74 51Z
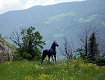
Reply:
M0 0L0 14L12 10L27 9L35 5L51 5L61 2L84 0Z

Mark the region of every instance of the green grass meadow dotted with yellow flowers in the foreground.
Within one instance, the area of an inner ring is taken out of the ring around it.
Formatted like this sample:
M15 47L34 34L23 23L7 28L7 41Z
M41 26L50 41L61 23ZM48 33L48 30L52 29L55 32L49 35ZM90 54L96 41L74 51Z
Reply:
M80 59L55 64L12 61L0 64L0 80L105 80L105 67Z

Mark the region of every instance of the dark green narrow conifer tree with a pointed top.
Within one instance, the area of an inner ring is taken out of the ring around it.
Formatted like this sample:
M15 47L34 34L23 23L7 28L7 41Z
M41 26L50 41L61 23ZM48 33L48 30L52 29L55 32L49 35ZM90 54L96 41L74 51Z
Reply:
M96 35L93 32L89 38L89 44L88 44L88 58L91 60L95 60L95 57L99 55L99 50L98 50L98 44L96 41Z

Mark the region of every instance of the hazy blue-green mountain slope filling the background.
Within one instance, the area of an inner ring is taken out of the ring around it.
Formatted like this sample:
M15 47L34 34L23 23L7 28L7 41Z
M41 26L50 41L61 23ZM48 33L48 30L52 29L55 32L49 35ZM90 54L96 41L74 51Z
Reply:
M47 41L47 45L51 45L53 40L61 44L66 36L73 40L77 48L80 32L90 25L105 31L105 0L34 6L0 15L1 34L10 36L20 27L35 26Z

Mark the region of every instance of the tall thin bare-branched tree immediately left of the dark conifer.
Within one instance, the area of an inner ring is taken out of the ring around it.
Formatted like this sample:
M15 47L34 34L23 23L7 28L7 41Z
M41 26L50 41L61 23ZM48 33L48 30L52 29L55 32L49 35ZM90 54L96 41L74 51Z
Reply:
M99 29L97 27L94 27L94 26L90 25L90 26L86 26L82 30L82 34L81 34L81 38L80 38L80 41L82 42L82 47L80 48L80 50L82 49L82 57L84 57L84 58L87 58L87 56L88 56L88 53L89 53L89 50L88 50L89 38L90 38L90 36L93 32L95 32L98 39L100 39ZM98 43L99 43L99 40L98 40Z

